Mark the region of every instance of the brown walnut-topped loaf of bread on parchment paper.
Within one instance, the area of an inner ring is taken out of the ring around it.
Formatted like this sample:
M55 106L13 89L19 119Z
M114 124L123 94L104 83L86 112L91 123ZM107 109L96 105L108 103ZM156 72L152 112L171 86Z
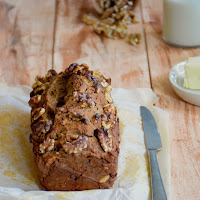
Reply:
M110 188L117 177L119 120L111 80L71 64L36 77L30 94L30 141L46 190Z

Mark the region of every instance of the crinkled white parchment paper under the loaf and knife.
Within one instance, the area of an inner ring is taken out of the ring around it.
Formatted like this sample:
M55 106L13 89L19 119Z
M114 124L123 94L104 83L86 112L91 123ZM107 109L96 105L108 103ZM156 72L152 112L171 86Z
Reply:
M158 100L151 89L113 89L112 97L120 119L118 178L112 189L77 192L41 191L29 143L31 88L0 85L0 199L66 200L148 200L151 199L148 156L144 142L140 105L153 113L160 130L163 149L158 162L171 199L169 116L153 104Z

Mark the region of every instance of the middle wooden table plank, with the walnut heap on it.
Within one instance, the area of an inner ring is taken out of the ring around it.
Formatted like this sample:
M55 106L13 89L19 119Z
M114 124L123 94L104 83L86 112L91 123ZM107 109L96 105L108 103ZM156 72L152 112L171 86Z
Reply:
M131 46L124 40L99 36L82 22L82 15L94 13L95 1L58 1L55 31L54 68L61 71L73 62L87 63L112 78L113 87L150 87L145 43ZM136 7L141 21L140 5ZM142 23L129 26L143 34Z

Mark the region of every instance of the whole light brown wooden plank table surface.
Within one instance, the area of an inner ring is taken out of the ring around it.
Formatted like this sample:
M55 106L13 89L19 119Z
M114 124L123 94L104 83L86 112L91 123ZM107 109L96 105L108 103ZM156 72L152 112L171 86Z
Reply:
M84 62L112 77L113 87L152 88L156 106L170 113L173 199L200 199L200 107L185 103L168 80L171 67L200 48L167 45L162 34L162 0L140 0L139 24L129 26L143 41L131 46L96 35L81 22L94 0L1 0L0 82L32 85L49 68Z

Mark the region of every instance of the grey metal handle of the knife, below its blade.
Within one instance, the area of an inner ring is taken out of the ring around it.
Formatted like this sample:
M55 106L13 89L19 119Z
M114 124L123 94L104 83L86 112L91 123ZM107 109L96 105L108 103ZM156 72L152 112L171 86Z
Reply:
M167 200L165 188L157 162L155 150L149 150L150 168L151 168L151 188L153 200Z

